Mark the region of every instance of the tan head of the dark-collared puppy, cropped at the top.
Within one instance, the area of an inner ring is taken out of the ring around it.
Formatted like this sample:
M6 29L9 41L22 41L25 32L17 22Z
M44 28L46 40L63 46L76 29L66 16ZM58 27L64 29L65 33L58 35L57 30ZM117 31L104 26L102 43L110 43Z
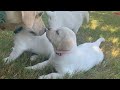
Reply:
M25 28L36 35L43 35L46 27L42 20L43 11L22 11L22 21Z

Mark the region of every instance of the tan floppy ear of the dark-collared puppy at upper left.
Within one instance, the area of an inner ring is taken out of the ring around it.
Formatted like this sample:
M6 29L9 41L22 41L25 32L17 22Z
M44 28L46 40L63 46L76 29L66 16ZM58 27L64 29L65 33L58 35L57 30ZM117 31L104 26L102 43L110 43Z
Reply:
M35 17L36 17L35 11L22 11L22 21L25 27L27 28L32 29Z

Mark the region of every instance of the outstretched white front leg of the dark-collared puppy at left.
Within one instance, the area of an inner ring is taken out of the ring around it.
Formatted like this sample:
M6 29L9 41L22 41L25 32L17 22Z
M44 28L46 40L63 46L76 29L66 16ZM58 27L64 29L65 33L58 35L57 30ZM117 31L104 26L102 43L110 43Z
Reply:
M5 63L10 63L12 61L14 61L15 59L17 59L25 50L18 48L18 47L14 47L13 51L10 53L10 56L4 59Z

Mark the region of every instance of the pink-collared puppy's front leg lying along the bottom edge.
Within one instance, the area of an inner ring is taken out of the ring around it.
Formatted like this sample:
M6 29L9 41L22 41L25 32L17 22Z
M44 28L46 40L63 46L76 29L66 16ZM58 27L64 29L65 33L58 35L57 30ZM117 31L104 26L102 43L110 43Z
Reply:
M50 73L48 75L42 75L39 79L62 79L63 75L59 73Z

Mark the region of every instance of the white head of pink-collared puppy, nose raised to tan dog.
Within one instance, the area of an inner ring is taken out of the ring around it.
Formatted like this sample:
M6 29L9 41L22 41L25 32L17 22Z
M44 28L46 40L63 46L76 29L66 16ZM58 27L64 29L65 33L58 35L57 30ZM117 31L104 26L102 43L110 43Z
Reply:
M76 35L67 27L47 30L46 35L55 51L69 51L76 45Z

